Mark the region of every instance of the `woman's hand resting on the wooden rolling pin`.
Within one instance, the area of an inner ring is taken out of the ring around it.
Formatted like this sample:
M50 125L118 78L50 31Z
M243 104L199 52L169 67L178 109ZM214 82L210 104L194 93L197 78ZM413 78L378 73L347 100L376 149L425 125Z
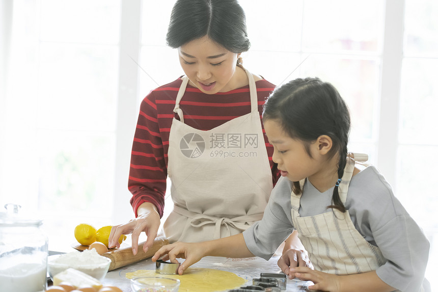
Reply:
M156 208L151 203L143 203L137 210L139 216L130 220L128 223L115 225L111 228L110 237L108 238L108 247L120 247L118 239L122 234L130 234L132 241L132 253L137 254L139 248L139 236L143 231L148 236L143 250L146 252L154 243L160 226L160 216Z

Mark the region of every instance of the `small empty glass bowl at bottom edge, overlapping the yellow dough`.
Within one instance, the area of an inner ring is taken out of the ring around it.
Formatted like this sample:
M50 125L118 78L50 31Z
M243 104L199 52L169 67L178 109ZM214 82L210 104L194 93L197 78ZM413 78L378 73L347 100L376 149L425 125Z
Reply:
M180 281L165 277L138 277L131 279L133 292L177 292Z

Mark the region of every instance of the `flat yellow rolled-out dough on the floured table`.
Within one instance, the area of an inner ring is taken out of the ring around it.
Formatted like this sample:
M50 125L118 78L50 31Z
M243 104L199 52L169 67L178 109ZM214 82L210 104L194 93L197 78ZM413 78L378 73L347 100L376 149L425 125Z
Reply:
M126 273L128 279L154 276L179 279L181 281L179 292L224 291L240 287L247 282L234 273L206 268L188 268L183 275L162 275L155 273L155 270Z

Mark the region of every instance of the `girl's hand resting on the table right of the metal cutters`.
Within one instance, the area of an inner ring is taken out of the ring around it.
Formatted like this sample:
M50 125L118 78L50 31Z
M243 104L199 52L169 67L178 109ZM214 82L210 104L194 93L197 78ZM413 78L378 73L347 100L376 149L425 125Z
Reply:
M309 286L311 290L322 290L329 292L341 291L340 276L314 271L306 267L291 268L290 271L295 277L303 281L312 281L314 285Z

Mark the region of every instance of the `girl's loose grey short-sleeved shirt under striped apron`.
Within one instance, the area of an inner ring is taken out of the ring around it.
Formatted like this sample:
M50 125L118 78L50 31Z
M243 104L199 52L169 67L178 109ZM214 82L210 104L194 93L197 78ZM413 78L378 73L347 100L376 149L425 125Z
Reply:
M249 250L268 260L294 230L290 213L292 183L282 177L272 190L263 219L243 231ZM330 211L333 188L320 193L306 180L300 217ZM412 194L413 200L416 194ZM379 278L401 291L418 292L429 256L429 241L394 196L389 183L373 167L354 175L345 207L366 241L379 247L387 262L376 270Z

